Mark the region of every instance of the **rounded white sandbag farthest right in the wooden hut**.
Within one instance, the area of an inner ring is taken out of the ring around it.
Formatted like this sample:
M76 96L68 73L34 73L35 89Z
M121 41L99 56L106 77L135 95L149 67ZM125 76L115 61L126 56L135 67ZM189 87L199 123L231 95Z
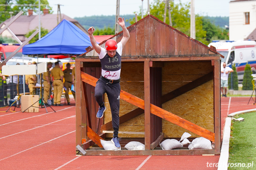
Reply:
M188 145L188 149L212 149L212 143L204 137L198 137Z

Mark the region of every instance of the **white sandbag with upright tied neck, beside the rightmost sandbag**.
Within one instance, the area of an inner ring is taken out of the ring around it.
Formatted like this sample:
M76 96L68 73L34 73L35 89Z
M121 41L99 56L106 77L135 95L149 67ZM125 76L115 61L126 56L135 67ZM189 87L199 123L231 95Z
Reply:
M183 145L190 143L187 139L190 136L191 134L185 132L179 141L177 141L176 139L166 139L162 143L160 143L160 146L162 147L162 150L172 150L178 147L183 147Z

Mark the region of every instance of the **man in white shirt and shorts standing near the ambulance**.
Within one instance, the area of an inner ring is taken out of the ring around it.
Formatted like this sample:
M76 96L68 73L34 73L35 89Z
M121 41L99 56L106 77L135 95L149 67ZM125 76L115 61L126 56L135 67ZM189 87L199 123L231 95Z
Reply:
M228 87L228 75L234 70L230 67L226 67L226 63L223 62L223 67L220 69L220 90L222 97L227 97L227 87ZM224 87L224 92L223 92Z

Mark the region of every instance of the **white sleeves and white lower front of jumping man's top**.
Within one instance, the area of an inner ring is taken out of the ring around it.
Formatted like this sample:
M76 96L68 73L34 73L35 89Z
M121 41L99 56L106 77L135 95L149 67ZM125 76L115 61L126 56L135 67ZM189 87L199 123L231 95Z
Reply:
M122 56L122 49L123 49L123 44L121 42L119 42L117 44L116 52L120 56ZM107 50L101 47L101 53L98 54L99 58L100 59L104 58L106 54L107 54ZM117 80L120 78L120 73L121 73L121 69L119 69L117 71L106 71L106 70L101 69L101 75L107 79Z

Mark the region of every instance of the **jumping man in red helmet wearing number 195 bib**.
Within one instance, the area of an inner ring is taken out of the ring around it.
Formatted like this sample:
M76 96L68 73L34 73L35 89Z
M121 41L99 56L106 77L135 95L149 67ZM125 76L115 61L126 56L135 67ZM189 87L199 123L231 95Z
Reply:
M120 107L120 72L121 72L121 55L123 46L130 38L129 31L125 27L124 18L119 17L117 23L123 29L123 38L117 44L113 39L106 41L105 49L99 46L93 37L94 28L90 27L88 33L90 41L95 51L98 53L101 61L101 77L95 86L95 99L100 108L97 113L97 118L102 118L103 113L106 110L102 96L107 94L109 99L109 105L112 114L112 127L114 129L114 137L111 142L116 148L120 148L118 138L119 130L119 107Z

